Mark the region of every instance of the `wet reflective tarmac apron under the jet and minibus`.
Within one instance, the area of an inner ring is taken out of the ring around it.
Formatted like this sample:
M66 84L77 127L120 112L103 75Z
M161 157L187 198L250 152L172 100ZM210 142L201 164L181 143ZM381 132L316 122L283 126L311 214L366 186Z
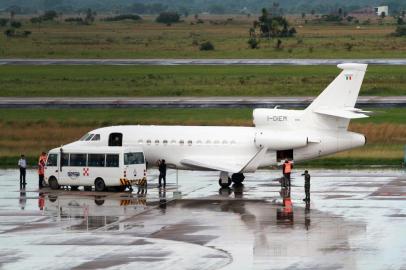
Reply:
M0 170L1 269L406 269L406 174L315 170L311 203L293 174L150 171L146 195L20 190ZM283 199L285 197L285 200ZM285 206L284 206L285 205Z

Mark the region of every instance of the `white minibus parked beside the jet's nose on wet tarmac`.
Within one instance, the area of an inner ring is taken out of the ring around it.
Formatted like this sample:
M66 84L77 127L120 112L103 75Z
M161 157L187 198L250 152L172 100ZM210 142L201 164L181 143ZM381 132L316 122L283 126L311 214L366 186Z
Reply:
M85 191L126 187L146 179L144 152L140 147L61 147L49 151L45 182L51 189L70 186Z

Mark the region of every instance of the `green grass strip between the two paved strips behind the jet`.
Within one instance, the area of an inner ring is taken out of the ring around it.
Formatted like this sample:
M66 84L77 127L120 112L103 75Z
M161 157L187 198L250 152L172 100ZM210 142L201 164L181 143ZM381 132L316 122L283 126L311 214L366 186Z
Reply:
M315 96L334 66L0 66L0 96ZM370 66L361 95L406 95L405 66Z

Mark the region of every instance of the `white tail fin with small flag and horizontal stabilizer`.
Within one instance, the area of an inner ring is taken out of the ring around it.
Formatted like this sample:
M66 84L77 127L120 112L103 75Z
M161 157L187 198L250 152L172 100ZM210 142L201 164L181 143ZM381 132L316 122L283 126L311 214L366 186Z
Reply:
M305 110L306 115L313 116L313 124L321 128L347 129L350 119L368 117L354 108L367 66L337 65L343 71Z

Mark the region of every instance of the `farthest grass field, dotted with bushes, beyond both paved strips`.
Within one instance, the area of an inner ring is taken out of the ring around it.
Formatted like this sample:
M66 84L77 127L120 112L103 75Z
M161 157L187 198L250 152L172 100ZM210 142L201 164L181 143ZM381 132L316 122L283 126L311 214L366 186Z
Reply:
M27 38L0 35L0 57L25 58L396 58L406 53L406 38L393 37L392 18L382 25L313 25L291 19L294 38L262 40L260 49L248 47L248 32L256 17L224 15L201 17L195 24L166 26L144 16L141 22L102 22L93 25L47 22L40 26L23 19ZM18 19L18 16L17 16ZM228 20L232 19L232 20ZM0 27L0 32L7 28ZM214 51L200 51L211 41Z

